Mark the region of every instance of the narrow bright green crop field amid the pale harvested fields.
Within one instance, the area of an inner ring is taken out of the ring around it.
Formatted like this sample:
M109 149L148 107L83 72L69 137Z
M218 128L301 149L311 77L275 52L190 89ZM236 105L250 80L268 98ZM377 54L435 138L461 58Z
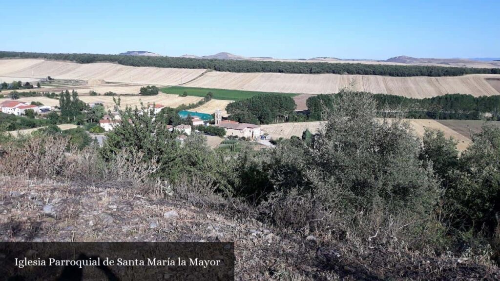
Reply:
M263 92L263 91L247 91L247 90L228 90L228 89L211 89L211 88L193 88L193 87L181 87L181 86L171 86L160 88L160 91L170 94L182 94L184 91L187 95L193 96L206 96L206 94L211 91L213 93L214 99L225 99L225 100L242 100L248 97L252 97L261 93L272 93L281 94L287 96L295 96L298 93L282 93L282 92Z

